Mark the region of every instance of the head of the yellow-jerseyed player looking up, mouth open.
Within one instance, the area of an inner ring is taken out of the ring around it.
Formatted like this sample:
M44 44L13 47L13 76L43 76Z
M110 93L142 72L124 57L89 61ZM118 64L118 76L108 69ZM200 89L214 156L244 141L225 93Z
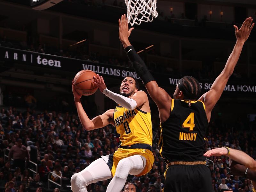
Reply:
M129 97L130 95L138 92L140 89L139 82L132 76L124 77L121 86L120 86L120 94Z

